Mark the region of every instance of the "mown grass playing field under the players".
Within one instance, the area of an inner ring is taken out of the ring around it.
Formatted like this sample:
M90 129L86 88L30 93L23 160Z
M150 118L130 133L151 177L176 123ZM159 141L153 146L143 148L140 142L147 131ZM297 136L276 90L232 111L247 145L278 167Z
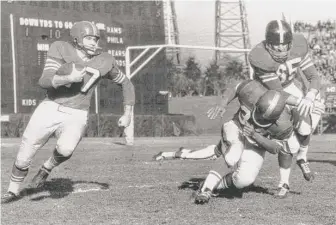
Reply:
M222 163L213 160L155 162L159 151L180 146L199 148L216 143L216 136L138 138L133 147L120 139L84 139L73 157L56 168L43 189L26 189L19 201L2 205L1 224L336 224L336 136L314 136L309 159L316 178L307 183L296 165L291 194L275 199L278 166L267 155L254 187L241 198L229 194L195 205L197 182ZM1 143L1 188L6 191L20 140ZM52 151L51 140L38 152L26 187Z

